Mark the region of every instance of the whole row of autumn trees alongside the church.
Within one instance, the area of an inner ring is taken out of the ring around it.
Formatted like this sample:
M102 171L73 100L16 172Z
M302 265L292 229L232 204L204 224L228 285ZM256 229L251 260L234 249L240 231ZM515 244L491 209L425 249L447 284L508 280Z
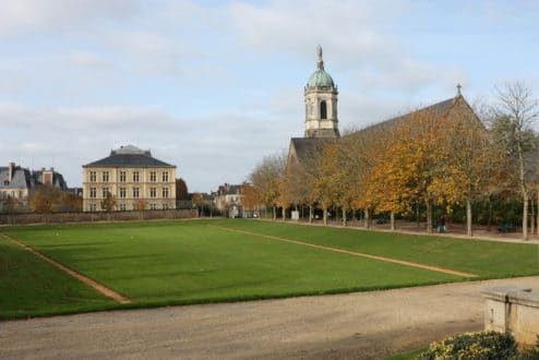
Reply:
M349 131L297 160L268 156L243 184L244 206L303 205L310 219L316 206L324 224L327 209L340 209L345 225L348 211L362 209L367 227L378 213L390 214L392 229L397 214L422 208L428 231L433 206L448 215L463 206L471 236L474 203L518 197L527 239L528 204L536 199L539 205L539 137L532 128L538 103L520 82L496 93L498 104L477 111L458 95L448 109L434 106Z

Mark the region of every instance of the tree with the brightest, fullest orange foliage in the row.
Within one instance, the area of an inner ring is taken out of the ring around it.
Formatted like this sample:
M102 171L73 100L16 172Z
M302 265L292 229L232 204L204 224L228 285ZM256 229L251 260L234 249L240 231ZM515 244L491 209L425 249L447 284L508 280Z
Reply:
M383 160L376 161L369 182L380 188L371 192L379 208L411 211L412 205L424 204L428 232L432 232L432 206L446 195L446 128L447 120L433 109L399 119L393 124Z

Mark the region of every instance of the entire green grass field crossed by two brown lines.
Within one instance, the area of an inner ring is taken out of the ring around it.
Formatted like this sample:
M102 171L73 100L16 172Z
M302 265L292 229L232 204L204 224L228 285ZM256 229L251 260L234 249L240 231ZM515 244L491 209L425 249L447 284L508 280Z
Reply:
M466 279L262 235L469 272L479 278L539 274L538 249L531 244L256 220L26 226L0 230L132 300L128 305L116 304L0 238L0 291L8 295L0 297L3 319Z

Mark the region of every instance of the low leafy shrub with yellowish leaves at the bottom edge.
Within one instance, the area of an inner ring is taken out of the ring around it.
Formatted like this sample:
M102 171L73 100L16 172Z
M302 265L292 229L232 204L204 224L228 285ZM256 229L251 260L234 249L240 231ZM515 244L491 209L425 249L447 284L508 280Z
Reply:
M433 343L418 359L515 359L516 343L508 333L466 333Z

